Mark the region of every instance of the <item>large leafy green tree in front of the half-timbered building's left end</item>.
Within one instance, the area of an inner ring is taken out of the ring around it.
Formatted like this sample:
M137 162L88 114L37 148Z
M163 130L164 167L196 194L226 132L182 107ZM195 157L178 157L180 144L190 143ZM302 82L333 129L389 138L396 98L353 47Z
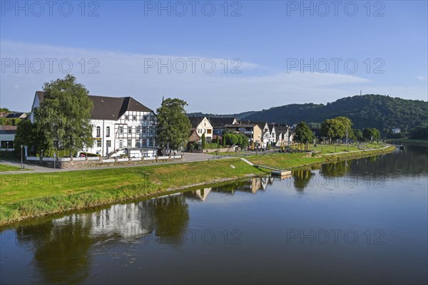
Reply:
M64 79L44 83L43 90L44 101L34 110L34 122L38 132L44 134L44 143L70 152L92 145L93 103L85 86L68 74Z

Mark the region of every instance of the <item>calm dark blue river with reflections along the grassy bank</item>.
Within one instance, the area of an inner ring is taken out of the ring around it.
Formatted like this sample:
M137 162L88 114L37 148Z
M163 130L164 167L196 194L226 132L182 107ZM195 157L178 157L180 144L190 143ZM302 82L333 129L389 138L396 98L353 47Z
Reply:
M428 148L1 229L1 284L427 284Z

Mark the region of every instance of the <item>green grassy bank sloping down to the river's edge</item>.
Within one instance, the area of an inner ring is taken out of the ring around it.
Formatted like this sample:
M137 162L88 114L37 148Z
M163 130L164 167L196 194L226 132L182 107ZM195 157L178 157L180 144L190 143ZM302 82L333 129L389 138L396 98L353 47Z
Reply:
M291 168L342 158L379 155L392 150L394 147L315 156L278 153L248 157L248 160L261 165ZM0 225L263 174L266 172L239 158L231 158L173 165L0 175Z

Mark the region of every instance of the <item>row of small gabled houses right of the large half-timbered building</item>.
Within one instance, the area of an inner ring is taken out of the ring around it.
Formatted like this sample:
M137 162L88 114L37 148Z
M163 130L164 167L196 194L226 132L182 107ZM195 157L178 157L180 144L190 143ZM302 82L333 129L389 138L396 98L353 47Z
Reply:
M239 121L233 117L190 117L190 142L200 142L202 135L210 142L223 133L245 135L250 146L290 145L295 129L288 125L267 122Z

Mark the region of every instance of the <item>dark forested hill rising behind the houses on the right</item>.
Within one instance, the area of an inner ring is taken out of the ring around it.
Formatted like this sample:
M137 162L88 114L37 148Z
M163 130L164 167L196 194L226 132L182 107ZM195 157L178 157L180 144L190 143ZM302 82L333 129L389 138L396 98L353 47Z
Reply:
M346 116L352 120L352 128L402 128L409 130L428 124L428 102L405 100L385 95L356 95L333 103L290 104L255 112L242 120L287 123L305 121L322 123L327 118Z

